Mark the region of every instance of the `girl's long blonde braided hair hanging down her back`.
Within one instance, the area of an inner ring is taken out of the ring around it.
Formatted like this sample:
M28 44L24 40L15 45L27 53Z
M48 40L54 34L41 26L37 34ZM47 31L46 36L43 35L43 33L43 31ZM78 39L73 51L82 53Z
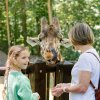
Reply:
M8 74L11 69L10 66L14 66L13 58L16 59L20 55L20 53L26 49L27 49L26 47L21 46L21 45L12 46L9 49L8 58L7 58L7 62L6 62L6 71L5 71L5 88L6 88L6 81L8 78Z

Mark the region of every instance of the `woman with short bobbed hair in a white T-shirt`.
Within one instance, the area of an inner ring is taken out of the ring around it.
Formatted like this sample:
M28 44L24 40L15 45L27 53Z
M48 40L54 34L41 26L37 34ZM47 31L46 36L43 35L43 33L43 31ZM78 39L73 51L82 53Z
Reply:
M94 35L85 23L78 23L68 33L75 50L81 54L71 71L71 83L60 83L52 89L53 96L69 93L69 100L95 100L95 91L90 84L98 88L100 63L99 55L93 47ZM65 76L67 77L67 76Z

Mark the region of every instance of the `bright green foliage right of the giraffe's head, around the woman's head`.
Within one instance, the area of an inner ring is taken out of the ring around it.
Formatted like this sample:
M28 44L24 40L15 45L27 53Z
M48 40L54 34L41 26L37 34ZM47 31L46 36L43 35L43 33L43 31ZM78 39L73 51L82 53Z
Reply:
M61 23L62 34L67 37L70 28L77 22L86 22L95 35L94 47L100 53L100 1L99 0L55 0L54 10ZM99 26L96 29L95 26ZM63 56L68 60L77 60L79 54L68 48L63 50Z

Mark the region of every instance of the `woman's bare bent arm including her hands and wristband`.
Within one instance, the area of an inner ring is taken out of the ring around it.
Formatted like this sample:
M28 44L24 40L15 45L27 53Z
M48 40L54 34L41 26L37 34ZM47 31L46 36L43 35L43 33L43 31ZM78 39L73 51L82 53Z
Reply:
M76 84L76 85L71 85L70 83L57 84L52 89L52 95L59 97L64 92L85 93L90 84L90 77L91 77L91 73L89 71L80 71L79 72L79 84Z

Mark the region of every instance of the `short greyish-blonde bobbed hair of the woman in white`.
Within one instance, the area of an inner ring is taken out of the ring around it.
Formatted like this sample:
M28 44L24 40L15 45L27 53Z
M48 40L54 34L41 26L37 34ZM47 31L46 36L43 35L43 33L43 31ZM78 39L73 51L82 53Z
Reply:
M86 23L76 24L68 33L73 45L93 44L94 34Z

